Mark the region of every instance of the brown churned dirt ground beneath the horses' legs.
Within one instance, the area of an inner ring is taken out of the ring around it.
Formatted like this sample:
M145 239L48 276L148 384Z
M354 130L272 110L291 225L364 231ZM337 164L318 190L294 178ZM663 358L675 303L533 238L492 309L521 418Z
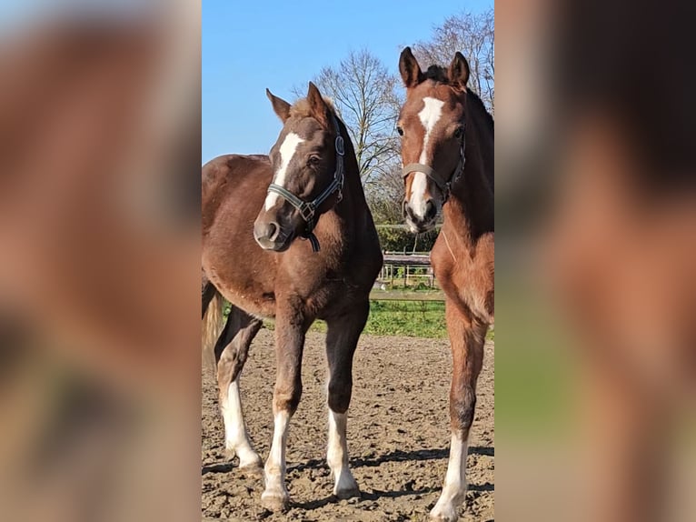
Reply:
M304 349L303 398L287 448L291 507L272 514L261 507L261 473L241 472L224 457L223 421L213 374L204 366L204 520L425 520L442 487L449 445L449 344L444 340L362 336L353 366L348 448L361 498L332 497L325 462L327 407L323 336ZM241 380L250 437L265 460L272 437L273 332L254 340ZM469 491L460 520L493 519L493 345L486 345L470 439Z

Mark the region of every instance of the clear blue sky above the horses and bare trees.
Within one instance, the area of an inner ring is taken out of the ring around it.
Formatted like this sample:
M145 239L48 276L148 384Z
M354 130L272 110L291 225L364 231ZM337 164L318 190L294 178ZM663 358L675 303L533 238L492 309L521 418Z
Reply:
M204 0L203 162L228 153L266 154L281 124L265 95L292 101L324 65L366 48L393 71L405 45L434 25L492 0Z

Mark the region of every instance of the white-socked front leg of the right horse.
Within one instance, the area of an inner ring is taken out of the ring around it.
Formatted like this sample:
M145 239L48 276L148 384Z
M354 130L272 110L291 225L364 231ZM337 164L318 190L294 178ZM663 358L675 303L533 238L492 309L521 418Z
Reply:
M481 372L487 325L468 321L451 300L446 302L447 331L452 345L450 423L452 440L442 494L430 516L452 522L466 495L466 455L476 406L476 381Z

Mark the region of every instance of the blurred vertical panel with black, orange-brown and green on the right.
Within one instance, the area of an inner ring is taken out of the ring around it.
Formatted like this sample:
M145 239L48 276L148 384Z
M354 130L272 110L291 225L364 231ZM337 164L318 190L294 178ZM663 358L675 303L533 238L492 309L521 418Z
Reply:
M501 520L694 519L692 20L496 2Z

